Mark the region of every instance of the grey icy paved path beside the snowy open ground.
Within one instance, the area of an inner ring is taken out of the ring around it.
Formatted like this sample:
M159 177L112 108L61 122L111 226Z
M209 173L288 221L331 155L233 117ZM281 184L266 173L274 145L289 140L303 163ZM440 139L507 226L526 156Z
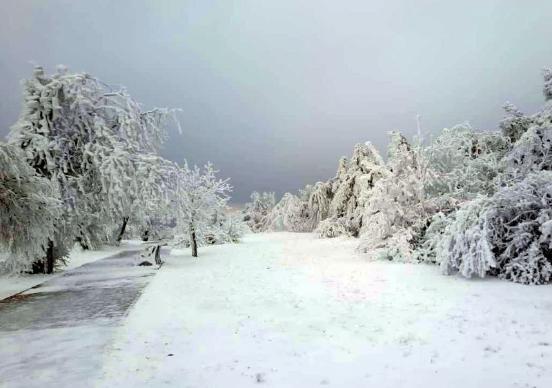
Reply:
M135 266L142 250L84 264L1 300L0 387L91 386L115 325L155 273Z

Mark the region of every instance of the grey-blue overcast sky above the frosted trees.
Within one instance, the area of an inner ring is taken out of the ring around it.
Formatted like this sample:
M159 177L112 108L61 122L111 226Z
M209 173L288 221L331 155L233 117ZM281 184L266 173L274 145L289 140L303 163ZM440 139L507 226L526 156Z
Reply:
M411 137L501 106L542 104L552 1L1 0L0 135L21 108L29 61L182 108L164 156L213 162L235 186L297 191L389 130Z

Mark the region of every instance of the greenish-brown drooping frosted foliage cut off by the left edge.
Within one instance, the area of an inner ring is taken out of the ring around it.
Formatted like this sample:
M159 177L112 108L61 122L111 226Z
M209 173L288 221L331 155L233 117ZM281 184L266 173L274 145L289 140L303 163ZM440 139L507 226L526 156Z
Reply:
M19 148L0 144L0 273L30 270L54 239L55 186L23 161Z

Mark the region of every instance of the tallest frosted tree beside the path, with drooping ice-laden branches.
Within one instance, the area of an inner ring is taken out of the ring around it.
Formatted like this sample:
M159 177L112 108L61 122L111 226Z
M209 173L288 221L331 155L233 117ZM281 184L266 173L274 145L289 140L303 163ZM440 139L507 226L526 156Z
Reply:
M130 215L144 220L167 197L171 166L155 153L174 110L144 111L124 88L61 66L52 77L37 66L23 90L8 142L57 186L57 240L93 247L108 238L110 224Z

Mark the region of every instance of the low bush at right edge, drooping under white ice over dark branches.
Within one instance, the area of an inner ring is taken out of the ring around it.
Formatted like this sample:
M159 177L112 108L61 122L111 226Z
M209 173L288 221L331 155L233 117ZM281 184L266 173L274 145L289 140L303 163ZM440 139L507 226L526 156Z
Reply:
M437 244L444 273L470 277L487 273L523 284L552 276L552 173L528 175L462 206Z

